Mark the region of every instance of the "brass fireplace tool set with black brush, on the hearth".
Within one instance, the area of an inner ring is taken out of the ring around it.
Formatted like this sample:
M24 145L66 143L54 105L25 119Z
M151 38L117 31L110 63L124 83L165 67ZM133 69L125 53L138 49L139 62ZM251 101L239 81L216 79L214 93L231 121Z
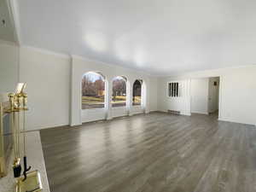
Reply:
M26 165L26 111L27 95L24 92L26 84L18 84L16 93L9 94L9 110L11 115L11 125L13 130L15 160L13 163L14 176L17 177L17 192L38 192L42 191L40 173L36 171L28 172L31 166ZM23 117L23 123L21 122ZM23 150L24 150L24 167L21 176L20 164L20 125L23 127Z

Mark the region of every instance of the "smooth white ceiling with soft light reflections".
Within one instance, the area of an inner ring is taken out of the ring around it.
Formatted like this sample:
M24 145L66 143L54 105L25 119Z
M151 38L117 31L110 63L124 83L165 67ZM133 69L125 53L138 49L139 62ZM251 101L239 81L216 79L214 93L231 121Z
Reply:
M256 63L255 0L20 0L22 44L155 75Z

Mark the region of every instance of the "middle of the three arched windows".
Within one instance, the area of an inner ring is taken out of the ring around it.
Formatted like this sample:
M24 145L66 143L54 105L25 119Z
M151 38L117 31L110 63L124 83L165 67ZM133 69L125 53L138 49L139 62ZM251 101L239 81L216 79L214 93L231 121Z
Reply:
M112 107L122 107L126 105L126 79L116 77L113 79Z

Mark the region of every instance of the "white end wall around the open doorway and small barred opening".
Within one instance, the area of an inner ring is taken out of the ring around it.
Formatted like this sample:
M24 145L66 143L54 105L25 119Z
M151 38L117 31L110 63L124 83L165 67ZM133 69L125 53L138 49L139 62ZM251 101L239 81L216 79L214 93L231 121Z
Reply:
M177 103L168 100L166 96L167 82L179 80L183 84L189 84L190 79L220 77L219 88L219 119L245 124L256 124L256 66L223 68L218 70L200 71L194 73L183 73L172 77L159 79L158 88L160 96L158 99L159 109L166 111L177 108ZM189 91L188 87L183 87ZM189 96L190 97L190 96ZM188 102L188 96L181 98L182 103ZM180 102L180 101L179 101ZM178 105L182 113L189 114L188 106Z

